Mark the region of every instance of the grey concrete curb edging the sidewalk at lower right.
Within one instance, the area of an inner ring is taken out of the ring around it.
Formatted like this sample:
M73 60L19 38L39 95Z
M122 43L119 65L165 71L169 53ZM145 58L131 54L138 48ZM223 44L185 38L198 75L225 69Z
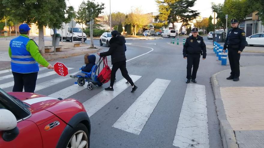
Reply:
M223 70L223 71L227 71L227 70ZM216 112L220 123L220 132L221 132L223 147L238 148L234 131L226 118L226 113L224 110L223 101L220 93L220 87L216 79L217 74L220 74L223 71L217 72L213 74L211 77L211 84L214 92Z

